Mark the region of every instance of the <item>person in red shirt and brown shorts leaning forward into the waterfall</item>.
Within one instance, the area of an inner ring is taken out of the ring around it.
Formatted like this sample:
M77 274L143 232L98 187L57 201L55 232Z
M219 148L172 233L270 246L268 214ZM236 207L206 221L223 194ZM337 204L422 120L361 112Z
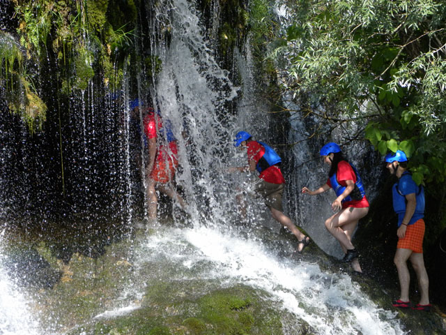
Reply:
M234 142L235 147L247 150L248 164L229 168L229 172L254 172L255 170L259 172L259 180L254 184L254 192L264 199L272 217L295 235L298 239L298 252L302 253L310 243L310 239L300 232L291 218L283 213L282 194L284 193L285 179L280 170L282 159L268 144L254 140L252 135L245 131L238 132ZM238 203L243 204L240 197L241 195L238 195ZM245 207L240 206L240 210L245 217Z

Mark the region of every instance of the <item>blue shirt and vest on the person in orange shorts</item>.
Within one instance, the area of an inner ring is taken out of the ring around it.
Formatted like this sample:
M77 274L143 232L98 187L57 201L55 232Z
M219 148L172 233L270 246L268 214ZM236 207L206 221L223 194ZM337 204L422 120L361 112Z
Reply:
M399 181L392 186L392 198L393 209L398 214L398 227L403 222L404 214L406 214L406 195L415 193L415 199L417 200L417 207L415 207L415 213L408 225L424 218L424 188L417 186L412 179L412 175L409 172L404 172L399 178Z

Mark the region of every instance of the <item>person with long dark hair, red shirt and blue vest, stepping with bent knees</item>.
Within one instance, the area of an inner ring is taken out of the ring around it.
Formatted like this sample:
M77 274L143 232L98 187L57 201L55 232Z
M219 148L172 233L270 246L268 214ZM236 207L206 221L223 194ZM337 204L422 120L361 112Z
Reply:
M362 179L353 165L344 158L338 144L325 144L320 155L324 163L330 165L328 179L315 191L311 191L307 186L303 187L302 193L316 195L333 188L337 198L332 202L332 209L336 213L325 220L325 228L339 241L344 251L344 262L351 262L353 270L362 273L358 260L359 252L351 243L358 221L369 212L369 201Z

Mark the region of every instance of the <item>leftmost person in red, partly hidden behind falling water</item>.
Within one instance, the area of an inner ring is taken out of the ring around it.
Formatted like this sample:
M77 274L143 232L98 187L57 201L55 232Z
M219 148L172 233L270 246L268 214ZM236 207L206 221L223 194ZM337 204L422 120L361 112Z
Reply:
M176 200L185 209L185 200L174 188L174 177L178 168L177 140L172 132L169 120L163 120L158 110L144 108L144 133L148 142L146 162L146 195L148 201L148 218L157 218L157 190Z

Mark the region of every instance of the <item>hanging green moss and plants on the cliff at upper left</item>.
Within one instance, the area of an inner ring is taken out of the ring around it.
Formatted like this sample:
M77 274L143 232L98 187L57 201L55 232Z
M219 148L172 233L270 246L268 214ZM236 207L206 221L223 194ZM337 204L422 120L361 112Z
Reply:
M133 0L15 3L17 40L26 50L26 57L12 36L1 32L0 82L8 89L10 110L22 115L31 131L42 126L47 109L36 94L40 87L33 84L45 81L34 70L40 62L48 64L52 57L59 61L58 86L68 96L86 89L96 73L104 73L104 82L110 87L122 82L125 58L134 52L132 31L137 7Z

